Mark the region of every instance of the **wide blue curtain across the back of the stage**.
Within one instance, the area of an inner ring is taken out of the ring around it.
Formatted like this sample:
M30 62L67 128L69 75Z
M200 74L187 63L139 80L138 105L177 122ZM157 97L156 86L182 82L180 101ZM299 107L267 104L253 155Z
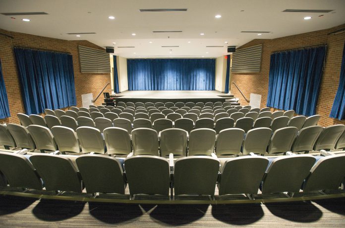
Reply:
M128 90L214 90L215 59L128 59Z

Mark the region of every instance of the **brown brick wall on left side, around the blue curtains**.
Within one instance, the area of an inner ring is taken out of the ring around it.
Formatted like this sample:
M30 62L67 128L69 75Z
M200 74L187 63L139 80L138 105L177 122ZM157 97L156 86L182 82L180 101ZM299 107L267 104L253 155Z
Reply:
M81 94L93 93L94 98L101 91L103 86L110 82L110 74L90 74L80 73L78 45L91 48L103 49L89 41L67 41L53 39L42 36L35 36L24 33L9 32L0 29L0 33L8 34L14 39L0 35L0 59L2 65L3 79L5 81L9 110L11 116L0 122L19 123L16 116L17 113L25 113L23 101L20 92L20 82L15 64L13 47L25 47L33 49L51 50L58 52L67 52L73 56L75 95L77 98L77 106L81 106ZM111 92L111 85L108 85L106 92ZM103 102L102 96L97 100L96 105Z

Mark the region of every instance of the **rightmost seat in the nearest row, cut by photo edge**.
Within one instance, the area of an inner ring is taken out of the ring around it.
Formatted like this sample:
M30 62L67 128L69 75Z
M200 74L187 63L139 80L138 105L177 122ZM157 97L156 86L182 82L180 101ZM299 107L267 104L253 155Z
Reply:
M303 193L338 190L345 177L345 154L321 157L303 183Z

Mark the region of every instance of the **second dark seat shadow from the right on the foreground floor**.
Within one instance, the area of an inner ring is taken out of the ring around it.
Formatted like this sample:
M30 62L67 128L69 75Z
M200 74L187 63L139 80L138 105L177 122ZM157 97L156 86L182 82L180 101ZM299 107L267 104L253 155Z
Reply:
M315 222L322 217L322 211L310 201L266 203L265 206L273 215L298 223Z

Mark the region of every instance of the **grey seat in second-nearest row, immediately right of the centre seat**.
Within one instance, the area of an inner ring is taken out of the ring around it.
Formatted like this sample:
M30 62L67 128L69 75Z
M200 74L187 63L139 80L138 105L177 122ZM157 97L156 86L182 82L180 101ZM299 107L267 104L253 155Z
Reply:
M194 129L189 134L188 156L211 155L214 151L216 131L208 128Z

